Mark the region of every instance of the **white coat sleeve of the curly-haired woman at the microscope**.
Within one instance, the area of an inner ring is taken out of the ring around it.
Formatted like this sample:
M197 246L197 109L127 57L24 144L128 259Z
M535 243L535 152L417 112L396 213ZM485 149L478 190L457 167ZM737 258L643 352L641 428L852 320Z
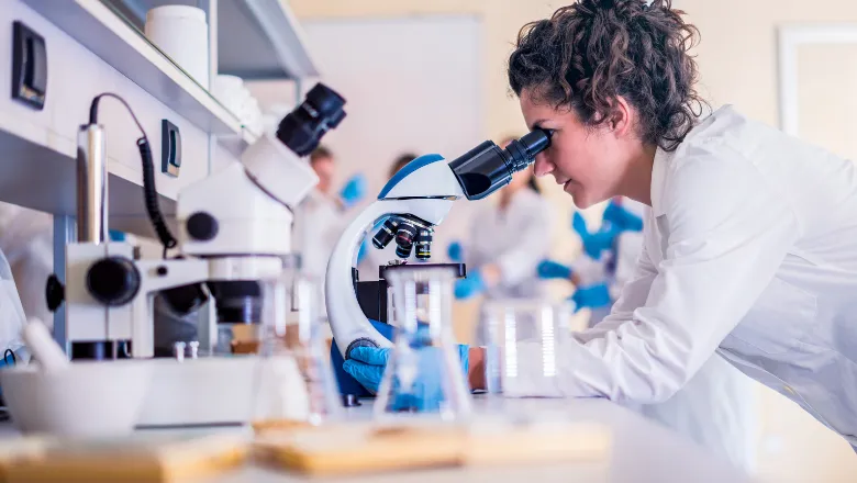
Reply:
M664 255L657 273L653 278L642 259L642 278L628 284L613 314L558 349L561 393L666 401L741 322L798 239L788 193L737 153L699 150L674 158L679 164L663 182L663 214L655 218L663 243L647 246ZM521 360L536 361L541 350L523 345ZM535 380L541 369L525 366ZM517 395L544 390L533 384Z

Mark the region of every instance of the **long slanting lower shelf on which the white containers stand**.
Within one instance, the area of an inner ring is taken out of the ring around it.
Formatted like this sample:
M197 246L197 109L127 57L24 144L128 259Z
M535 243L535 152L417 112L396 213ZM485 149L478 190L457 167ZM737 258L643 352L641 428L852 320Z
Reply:
M238 119L100 0L23 1L176 113L242 147L230 142L243 138Z

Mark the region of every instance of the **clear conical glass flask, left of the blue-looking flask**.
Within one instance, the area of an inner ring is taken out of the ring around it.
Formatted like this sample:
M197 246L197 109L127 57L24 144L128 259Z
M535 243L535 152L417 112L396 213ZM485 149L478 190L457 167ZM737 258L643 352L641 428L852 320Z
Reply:
M340 416L319 290L307 278L283 277L263 284L251 419L256 430L318 426Z

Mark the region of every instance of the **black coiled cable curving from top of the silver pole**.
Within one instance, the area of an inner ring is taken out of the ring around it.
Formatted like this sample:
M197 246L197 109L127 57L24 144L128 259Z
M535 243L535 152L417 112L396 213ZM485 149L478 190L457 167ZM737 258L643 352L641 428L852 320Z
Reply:
M146 205L148 218L155 228L155 233L157 234L160 244L164 246L164 258L167 258L167 250L174 248L178 242L170 233L169 227L164 220L164 214L160 211L160 205L158 204L158 192L155 187L155 162L152 160L152 148L148 144L148 136L146 136L146 131L137 120L137 116L134 115L134 111L127 102L112 92L103 92L92 99L92 105L89 108L90 124L98 124L98 103L101 101L101 98L105 97L113 98L121 102L129 114L131 114L131 117L134 119L134 123L136 123L140 132L143 134L143 136L137 139L137 149L140 150L140 158L143 164L143 200Z

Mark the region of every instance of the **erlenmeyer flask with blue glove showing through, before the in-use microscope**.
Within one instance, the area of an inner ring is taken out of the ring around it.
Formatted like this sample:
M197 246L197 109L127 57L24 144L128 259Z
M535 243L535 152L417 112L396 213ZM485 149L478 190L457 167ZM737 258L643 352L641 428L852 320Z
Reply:
M375 402L376 418L422 413L443 420L470 414L452 328L456 271L442 266L388 269L397 332Z

